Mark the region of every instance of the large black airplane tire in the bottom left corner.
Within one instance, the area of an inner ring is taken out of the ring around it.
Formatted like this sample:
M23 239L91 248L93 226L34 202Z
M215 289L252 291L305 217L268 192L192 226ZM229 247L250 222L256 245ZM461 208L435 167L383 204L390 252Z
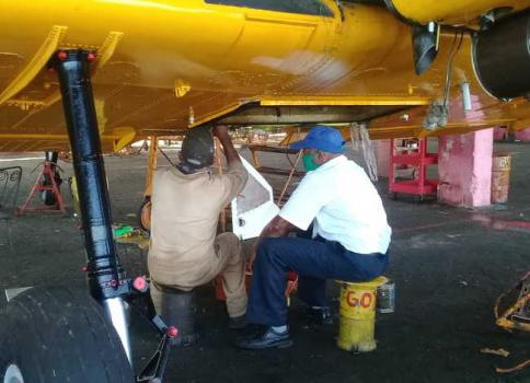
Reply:
M132 382L122 343L88 294L34 288L0 313L0 382Z

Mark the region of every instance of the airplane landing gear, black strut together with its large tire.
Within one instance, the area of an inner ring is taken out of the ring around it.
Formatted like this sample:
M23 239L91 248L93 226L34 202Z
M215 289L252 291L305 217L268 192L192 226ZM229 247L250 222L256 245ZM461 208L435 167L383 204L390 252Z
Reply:
M0 313L0 382L132 381L125 299L131 304L135 293L146 297L149 285L143 277L127 279L117 257L90 83L89 65L94 57L80 49L60 50L50 61L59 74L92 298L58 286L31 288L13 298ZM47 163L51 162L54 158ZM159 383L178 332L166 326L154 310L148 311L162 340L136 381Z

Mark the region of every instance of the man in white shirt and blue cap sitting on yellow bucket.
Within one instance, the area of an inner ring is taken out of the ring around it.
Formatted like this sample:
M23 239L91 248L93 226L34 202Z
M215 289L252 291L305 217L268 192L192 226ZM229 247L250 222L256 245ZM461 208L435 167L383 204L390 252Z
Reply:
M342 154L343 146L341 134L327 126L291 144L303 149L308 174L257 241L246 321L265 330L239 339L238 346L292 345L284 295L288 271L298 272L300 298L323 322L331 320L326 279L365 281L384 271L391 236L387 214L362 167ZM311 224L307 237L287 237Z

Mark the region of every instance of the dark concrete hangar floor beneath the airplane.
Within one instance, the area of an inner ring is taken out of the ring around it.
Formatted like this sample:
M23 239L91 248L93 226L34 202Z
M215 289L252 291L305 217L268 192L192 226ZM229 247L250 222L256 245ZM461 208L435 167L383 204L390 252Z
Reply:
M530 231L505 224L530 221L530 144L497 143L496 150L512 154L507 206L472 210L405 197L394 201L387 196L385 181L378 183L393 228L387 275L396 282L396 312L378 316L376 351L339 350L334 343L337 326L309 326L296 300L290 310L292 348L239 350L233 346L237 334L226 329L223 305L207 286L198 290L200 339L173 352L166 382L530 382L530 369L495 373L495 367L530 358L530 337L499 329L493 316L497 295L530 265ZM0 167L23 166L22 199L39 160L9 161L21 156L41 154L2 155ZM136 222L146 160L143 154L105 158L115 222ZM265 156L263 162L287 164L279 156ZM70 164L60 165L65 178L72 173ZM67 204L71 206L69 198ZM0 225L0 289L56 283L83 288L84 251L71 216L32 214ZM120 246L120 253L130 274L141 272L140 251ZM333 282L329 294L336 312ZM0 305L4 304L2 297ZM137 316L132 328L139 367L155 348L157 336ZM483 355L484 347L505 348L511 355Z

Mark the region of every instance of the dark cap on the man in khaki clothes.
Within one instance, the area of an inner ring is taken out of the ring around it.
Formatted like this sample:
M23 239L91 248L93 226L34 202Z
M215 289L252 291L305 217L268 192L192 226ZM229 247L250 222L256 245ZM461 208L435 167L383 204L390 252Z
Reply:
M195 169L211 166L214 163L214 136L211 127L189 129L182 141L182 161Z

